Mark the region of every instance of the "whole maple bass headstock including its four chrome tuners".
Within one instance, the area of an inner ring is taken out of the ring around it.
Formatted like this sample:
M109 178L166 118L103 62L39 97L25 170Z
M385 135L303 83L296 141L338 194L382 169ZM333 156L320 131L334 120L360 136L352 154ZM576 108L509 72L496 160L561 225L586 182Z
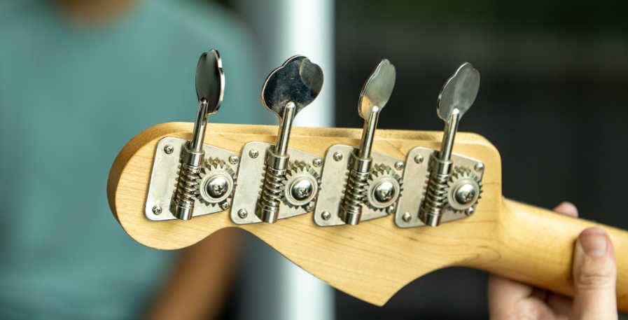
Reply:
M359 95L362 130L292 127L323 86L323 71L302 56L288 59L263 85L263 105L279 127L207 125L221 104L224 77L218 52L204 53L194 125L151 127L113 163L111 210L138 242L179 249L239 227L379 305L421 274L485 257L485 244L474 244L473 235L496 232L501 164L486 139L456 134L479 85L470 64L439 95L444 134L376 130L396 78L388 60Z

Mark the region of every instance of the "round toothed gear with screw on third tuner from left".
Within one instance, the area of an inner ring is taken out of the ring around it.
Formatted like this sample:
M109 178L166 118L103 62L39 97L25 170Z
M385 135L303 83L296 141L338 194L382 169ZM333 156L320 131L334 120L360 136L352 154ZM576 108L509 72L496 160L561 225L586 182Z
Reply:
M375 165L368 176L365 203L381 211L395 204L401 195L401 177L387 165Z

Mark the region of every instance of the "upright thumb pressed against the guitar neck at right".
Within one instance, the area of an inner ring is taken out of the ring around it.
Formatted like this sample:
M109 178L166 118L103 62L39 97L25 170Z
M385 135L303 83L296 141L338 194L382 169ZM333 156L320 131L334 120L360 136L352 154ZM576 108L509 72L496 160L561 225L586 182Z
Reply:
M573 319L617 319L615 253L606 232L580 233L573 253Z

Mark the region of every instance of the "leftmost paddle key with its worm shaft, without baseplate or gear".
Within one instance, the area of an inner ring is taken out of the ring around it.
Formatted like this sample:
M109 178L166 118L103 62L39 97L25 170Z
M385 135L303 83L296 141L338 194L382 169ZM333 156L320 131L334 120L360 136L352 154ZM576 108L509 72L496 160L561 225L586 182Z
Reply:
M223 102L225 74L217 50L203 53L196 67L196 95L198 112L192 139L183 146L181 169L171 209L176 218L190 220L194 211L195 196L199 192L200 171L205 156L203 140L209 115L216 113Z

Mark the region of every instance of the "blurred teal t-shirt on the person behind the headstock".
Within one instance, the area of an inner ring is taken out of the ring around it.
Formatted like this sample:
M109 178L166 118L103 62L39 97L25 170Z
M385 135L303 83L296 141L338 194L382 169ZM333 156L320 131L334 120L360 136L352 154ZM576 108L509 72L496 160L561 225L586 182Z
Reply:
M15 2L0 4L0 319L137 319L174 256L116 223L111 163L141 130L194 120L210 48L226 76L211 122L258 122L255 50L216 6L138 1L81 27L53 1Z

